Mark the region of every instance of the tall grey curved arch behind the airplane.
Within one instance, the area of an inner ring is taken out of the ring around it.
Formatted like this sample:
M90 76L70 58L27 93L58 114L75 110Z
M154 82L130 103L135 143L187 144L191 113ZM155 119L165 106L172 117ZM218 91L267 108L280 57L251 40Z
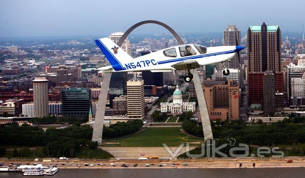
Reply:
M144 25L144 24L157 24L160 25L164 28L166 28L177 40L179 45L184 45L184 42L182 39L179 37L179 35L168 25L155 21L155 20L146 20L142 21L139 23L136 23L135 25L131 26L121 37L119 40L118 44L120 47L123 44L124 40L127 38L127 36L137 27ZM200 116L202 120L202 128L203 128L203 134L204 134L204 139L213 139L213 134L212 134L212 129L211 129L211 124L210 124L210 118L209 118L209 113L208 113L208 108L206 104L206 100L204 97L203 89L201 86L201 82L199 79L199 75L197 72L197 69L194 69L193 72L193 82L197 94L197 99L199 103L199 110L200 110ZM102 134L103 134L103 123L104 123L104 115L105 115L105 106L106 106L106 100L107 100L107 93L109 89L109 84L110 84L110 79L111 79L111 73L105 73L103 77L103 83L101 86L101 92L98 98L97 102L97 109L95 113L95 121L94 121L94 126L93 126L93 134L92 134L92 141L97 141L98 144L102 143Z

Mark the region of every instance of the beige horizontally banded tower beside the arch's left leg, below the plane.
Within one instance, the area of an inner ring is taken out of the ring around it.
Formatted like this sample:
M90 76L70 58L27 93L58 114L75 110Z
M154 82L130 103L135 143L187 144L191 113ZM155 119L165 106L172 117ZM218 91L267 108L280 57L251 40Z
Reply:
M127 81L127 115L128 119L145 117L144 81Z

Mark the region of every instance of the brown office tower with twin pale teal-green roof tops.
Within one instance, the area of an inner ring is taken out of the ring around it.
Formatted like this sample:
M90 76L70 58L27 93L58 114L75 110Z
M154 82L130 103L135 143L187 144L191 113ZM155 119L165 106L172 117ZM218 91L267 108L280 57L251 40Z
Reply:
M281 30L277 25L250 26L247 32L248 71L281 71Z

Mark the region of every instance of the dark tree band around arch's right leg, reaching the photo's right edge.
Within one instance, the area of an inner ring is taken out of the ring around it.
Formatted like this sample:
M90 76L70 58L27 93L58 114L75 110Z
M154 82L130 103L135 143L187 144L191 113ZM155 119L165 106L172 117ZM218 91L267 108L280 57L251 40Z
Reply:
M305 117L284 119L271 125L262 122L256 125L236 120L212 123L215 139L234 138L237 143L249 145L297 145L305 143ZM202 125L192 120L184 121L182 128L189 134L203 137Z

